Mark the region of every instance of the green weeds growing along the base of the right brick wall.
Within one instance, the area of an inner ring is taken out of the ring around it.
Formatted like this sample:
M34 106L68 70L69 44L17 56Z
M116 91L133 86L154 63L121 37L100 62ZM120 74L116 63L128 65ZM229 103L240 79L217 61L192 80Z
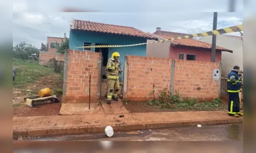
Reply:
M157 96L155 96L155 84L152 84L153 99L147 101L146 105L155 105L163 109L181 109L181 110L212 110L212 109L225 109L222 105L222 100L215 98L211 101L204 101L198 103L197 98L186 97L183 99L180 96L178 90L175 90L175 94L171 95L168 91L168 86L163 90L157 90Z

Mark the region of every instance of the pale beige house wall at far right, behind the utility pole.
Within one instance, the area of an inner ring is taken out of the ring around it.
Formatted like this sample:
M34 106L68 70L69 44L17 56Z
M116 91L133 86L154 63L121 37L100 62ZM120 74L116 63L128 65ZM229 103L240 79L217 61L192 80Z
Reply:
M205 36L199 41L210 43L211 36ZM231 35L216 35L216 45L233 50L233 54L223 52L221 55L222 77L227 77L230 70L235 66L240 66L243 70L243 37Z

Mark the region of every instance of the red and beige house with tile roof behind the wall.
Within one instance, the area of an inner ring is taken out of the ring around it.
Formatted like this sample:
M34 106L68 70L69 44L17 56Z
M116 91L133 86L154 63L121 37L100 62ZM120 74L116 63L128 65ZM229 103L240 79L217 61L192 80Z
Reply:
M161 31L161 28L156 28L152 37L157 37L160 40L180 37L187 34ZM150 42L151 40L148 40ZM232 50L224 47L216 46L215 61L221 61L222 52L232 53ZM147 44L147 56L159 58L173 58L181 60L196 60L196 61L211 61L211 44L189 39L179 39L172 42L160 42Z

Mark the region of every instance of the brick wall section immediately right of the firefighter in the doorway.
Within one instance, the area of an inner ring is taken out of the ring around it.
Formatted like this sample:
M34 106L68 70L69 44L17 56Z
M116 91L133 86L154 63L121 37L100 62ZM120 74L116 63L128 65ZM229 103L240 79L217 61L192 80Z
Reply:
M125 98L145 101L153 97L155 90L170 86L171 59L127 56L127 91Z

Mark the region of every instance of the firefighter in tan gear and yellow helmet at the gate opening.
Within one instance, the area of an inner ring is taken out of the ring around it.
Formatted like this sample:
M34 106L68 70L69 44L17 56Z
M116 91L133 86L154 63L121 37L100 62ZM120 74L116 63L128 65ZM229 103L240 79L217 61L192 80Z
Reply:
M121 72L120 54L115 52L108 60L106 66L106 75L108 80L107 104L111 104L111 99L118 101L117 93L119 91L119 72Z

